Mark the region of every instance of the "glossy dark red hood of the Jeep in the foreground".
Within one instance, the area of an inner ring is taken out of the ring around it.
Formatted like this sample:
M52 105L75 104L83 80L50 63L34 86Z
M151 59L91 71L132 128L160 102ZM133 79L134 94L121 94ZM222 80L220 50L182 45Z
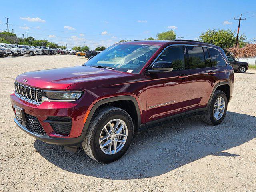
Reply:
M49 70L32 71L20 74L15 81L40 89L65 90L75 83L119 78L132 74L110 69L88 66L74 66Z

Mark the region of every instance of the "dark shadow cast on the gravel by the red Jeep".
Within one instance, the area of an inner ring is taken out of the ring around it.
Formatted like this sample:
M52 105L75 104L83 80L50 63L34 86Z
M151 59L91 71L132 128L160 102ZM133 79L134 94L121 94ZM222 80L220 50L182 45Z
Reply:
M205 124L200 116L174 121L136 132L126 154L110 164L90 159L81 146L76 154L69 154L63 146L35 140L34 148L46 160L69 172L113 180L146 178L208 155L236 158L239 154L223 151L255 138L255 125L255 116L235 112L227 112L218 126Z

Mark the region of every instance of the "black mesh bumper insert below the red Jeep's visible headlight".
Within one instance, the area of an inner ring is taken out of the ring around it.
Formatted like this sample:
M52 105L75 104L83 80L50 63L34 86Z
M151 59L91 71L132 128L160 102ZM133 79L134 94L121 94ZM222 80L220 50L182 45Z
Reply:
M47 118L52 129L58 134L69 134L72 126L72 119L70 117L50 116ZM54 122L56 121L56 122Z

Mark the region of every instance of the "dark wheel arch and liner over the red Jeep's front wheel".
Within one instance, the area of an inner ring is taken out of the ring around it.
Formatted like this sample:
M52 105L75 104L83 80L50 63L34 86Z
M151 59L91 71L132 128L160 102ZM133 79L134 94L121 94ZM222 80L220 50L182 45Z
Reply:
M96 110L103 106L116 106L128 112L133 120L134 130L137 130L141 126L141 112L136 98L130 95L114 96L99 100L92 106L88 117L86 118L86 122L84 123L83 132L87 131L88 126L92 120L92 116Z

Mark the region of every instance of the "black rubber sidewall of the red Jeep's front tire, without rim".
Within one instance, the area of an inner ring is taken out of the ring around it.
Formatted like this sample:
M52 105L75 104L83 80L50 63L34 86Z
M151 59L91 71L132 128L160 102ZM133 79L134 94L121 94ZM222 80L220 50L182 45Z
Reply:
M100 138L100 133L102 131L102 128L110 120L113 120L113 119L121 119L126 123L127 129L128 129L128 136L127 136L127 140L126 140L123 148L119 152L117 152L116 154L108 155L108 154L105 154L101 150L100 144L99 144L99 138ZM128 150L128 148L132 142L132 138L133 138L132 119L130 118L130 116L128 116L122 110L120 110L119 112L117 112L117 111L111 112L106 117L104 117L100 122L98 122L96 124L93 134L94 135L91 140L91 142L92 142L91 146L92 146L92 153L94 154L94 157L96 158L96 160L98 160L99 162L103 162L103 163L113 162L115 160L118 160L119 158L121 158L124 155L124 153Z

